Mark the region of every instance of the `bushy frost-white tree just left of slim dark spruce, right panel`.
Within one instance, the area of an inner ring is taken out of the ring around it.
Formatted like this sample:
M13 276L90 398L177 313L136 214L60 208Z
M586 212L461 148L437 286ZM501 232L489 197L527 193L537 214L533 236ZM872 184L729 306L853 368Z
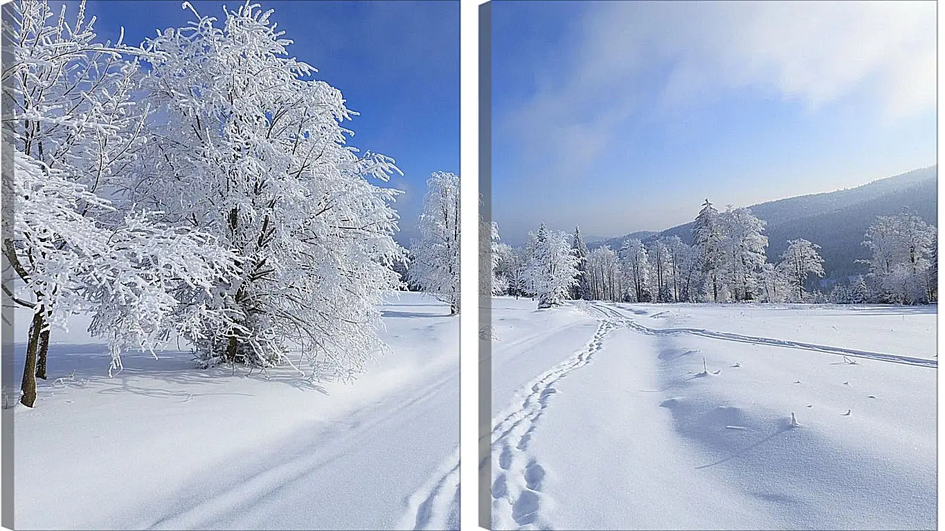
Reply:
M577 283L577 257L571 252L568 235L549 230L542 223L537 232L528 233L526 269L538 307L563 304Z

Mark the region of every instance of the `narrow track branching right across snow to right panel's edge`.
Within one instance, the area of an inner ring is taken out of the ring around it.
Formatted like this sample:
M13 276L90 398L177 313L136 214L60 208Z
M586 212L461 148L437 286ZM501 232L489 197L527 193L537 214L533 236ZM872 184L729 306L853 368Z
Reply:
M714 340L728 340L728 341L738 341L742 343L751 343L756 345L768 345L784 348L796 348L802 350L810 350L815 352L823 352L826 354L848 356L848 357L862 357L866 359L876 359L878 361L887 361L891 363L902 363L904 365L916 365L919 367L930 367L933 369L938 368L938 361L936 359L928 359L924 357L908 357L900 356L896 354L884 354L880 352L869 352L864 350L855 350L842 347L833 347L829 345L818 345L815 343L804 343L800 341L792 340L774 340L771 338L759 338L755 336L744 336L741 334L733 334L731 332L717 332L713 330L707 330L705 328L648 328L643 324L639 324L632 319L629 319L623 312L615 307L608 307L599 303L592 303L591 307L599 314L604 316L606 319L615 319L620 324L623 324L629 328L632 328L642 334L648 336L677 336L679 334L690 334L693 336L701 336L703 338L710 338Z

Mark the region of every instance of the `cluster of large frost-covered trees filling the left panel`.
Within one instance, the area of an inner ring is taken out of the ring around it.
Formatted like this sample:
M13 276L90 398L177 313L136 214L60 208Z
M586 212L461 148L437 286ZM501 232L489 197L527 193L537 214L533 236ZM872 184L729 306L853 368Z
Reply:
M96 41L84 3L69 23L30 0L5 18L3 252L18 285L3 288L33 312L27 406L50 324L75 311L112 374L124 350L176 336L205 363L298 365L301 351L300 374L340 379L383 347L378 306L403 250L399 191L374 183L399 170L347 145L354 113L306 80L271 11L247 3L220 27L184 7L198 20L138 47Z

